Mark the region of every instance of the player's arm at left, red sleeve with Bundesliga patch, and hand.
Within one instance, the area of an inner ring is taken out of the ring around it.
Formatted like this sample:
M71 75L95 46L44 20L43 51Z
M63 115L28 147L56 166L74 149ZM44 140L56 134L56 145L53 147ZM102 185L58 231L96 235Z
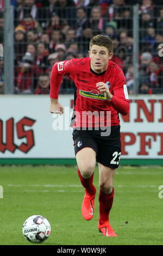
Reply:
M58 101L59 86L62 81L62 76L70 75L70 73L72 72L71 62L72 60L68 60L64 62L58 62L53 65L50 89L51 104L49 107L49 112L51 113L64 113L64 108Z

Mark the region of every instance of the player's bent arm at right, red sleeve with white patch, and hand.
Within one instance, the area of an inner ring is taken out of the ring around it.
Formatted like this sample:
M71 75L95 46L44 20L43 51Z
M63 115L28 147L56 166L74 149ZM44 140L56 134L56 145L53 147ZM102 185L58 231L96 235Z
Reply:
M123 71L120 69L115 74L115 82L113 93L110 93L110 90L107 84L99 82L96 84L96 87L99 89L99 92L103 93L111 105L116 109L117 112L126 115L129 112L129 98L126 86L126 78L123 74Z

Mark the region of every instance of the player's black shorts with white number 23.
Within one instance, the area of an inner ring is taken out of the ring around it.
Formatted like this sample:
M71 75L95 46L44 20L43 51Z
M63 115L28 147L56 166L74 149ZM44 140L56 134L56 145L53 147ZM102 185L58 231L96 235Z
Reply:
M101 136L101 130L73 130L75 154L83 148L96 152L96 161L106 167L118 168L121 157L120 125L111 126L109 136Z

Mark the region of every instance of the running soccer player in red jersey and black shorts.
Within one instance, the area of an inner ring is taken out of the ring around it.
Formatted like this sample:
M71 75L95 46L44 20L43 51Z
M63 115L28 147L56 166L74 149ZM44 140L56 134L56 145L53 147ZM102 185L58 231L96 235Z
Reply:
M121 156L120 119L118 113L129 112L126 80L119 66L111 62L112 41L96 35L90 41L89 57L55 63L51 74L51 113L64 113L58 101L62 76L76 84L73 141L79 179L85 188L82 215L92 219L95 211L96 187L93 173L99 168L98 229L104 236L117 236L109 223L114 198L113 179ZM109 117L110 113L110 119ZM110 132L103 132L103 129Z

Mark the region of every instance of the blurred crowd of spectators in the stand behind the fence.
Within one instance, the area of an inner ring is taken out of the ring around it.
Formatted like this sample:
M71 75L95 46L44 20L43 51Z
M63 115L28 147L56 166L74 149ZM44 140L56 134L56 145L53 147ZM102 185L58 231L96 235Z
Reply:
M139 93L163 93L163 5L152 0L11 0L14 6L14 93L49 94L54 63L88 56L92 36L110 36L112 61L123 70L133 94L133 5L139 3ZM0 0L0 43L4 1ZM162 44L162 45L161 45ZM0 93L3 93L0 59ZM63 77L60 93L73 93Z

